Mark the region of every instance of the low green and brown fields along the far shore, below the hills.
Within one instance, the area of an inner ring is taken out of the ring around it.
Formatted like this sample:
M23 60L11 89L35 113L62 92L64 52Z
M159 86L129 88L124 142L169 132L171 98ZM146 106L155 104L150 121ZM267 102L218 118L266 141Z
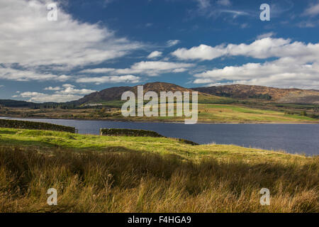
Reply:
M260 106L259 106L260 107ZM260 107L262 108L262 107ZM257 109L234 104L198 104L200 123L319 123L319 119L301 116L302 110L291 114L286 109ZM290 114L288 114L290 113ZM124 117L116 108L101 109L2 109L0 116L16 118L66 118L110 121L184 122L184 117Z

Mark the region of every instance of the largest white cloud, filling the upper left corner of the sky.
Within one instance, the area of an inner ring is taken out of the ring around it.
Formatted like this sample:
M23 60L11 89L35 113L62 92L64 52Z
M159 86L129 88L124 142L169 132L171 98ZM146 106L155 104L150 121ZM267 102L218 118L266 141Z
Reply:
M118 38L98 24L82 23L58 8L47 21L49 0L0 0L0 63L23 67L77 67L127 55L140 43Z

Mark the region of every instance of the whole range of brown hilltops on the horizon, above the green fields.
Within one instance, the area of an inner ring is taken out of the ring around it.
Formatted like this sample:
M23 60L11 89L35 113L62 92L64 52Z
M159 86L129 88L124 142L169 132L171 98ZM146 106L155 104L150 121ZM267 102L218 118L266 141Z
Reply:
M166 82L152 82L143 84L144 93L157 92L198 92L198 102L207 104L231 104L236 100L259 99L260 101L272 101L279 104L319 104L319 90L304 89L279 89L256 85L233 84L213 87L184 88L176 84ZM28 101L16 101L11 99L0 99L1 106L7 107L29 107L50 108L61 106L63 108L74 108L85 104L103 104L118 107L123 104L121 96L123 92L134 92L137 94L138 86L134 87L111 87L100 92L87 94L82 99L66 103L44 103L35 104Z

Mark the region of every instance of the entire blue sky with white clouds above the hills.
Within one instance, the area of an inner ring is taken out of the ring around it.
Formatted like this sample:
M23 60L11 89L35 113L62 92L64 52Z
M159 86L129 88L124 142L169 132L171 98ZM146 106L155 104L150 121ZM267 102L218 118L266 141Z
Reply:
M319 0L0 0L0 99L147 82L319 89Z

